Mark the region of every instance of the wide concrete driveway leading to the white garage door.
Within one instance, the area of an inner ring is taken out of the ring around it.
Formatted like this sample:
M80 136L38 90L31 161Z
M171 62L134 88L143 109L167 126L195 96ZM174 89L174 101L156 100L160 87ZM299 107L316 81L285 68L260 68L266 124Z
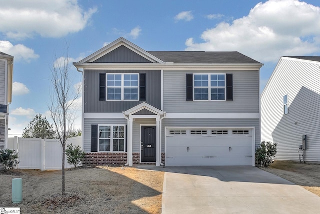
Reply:
M162 213L320 213L320 197L253 166L165 167Z

